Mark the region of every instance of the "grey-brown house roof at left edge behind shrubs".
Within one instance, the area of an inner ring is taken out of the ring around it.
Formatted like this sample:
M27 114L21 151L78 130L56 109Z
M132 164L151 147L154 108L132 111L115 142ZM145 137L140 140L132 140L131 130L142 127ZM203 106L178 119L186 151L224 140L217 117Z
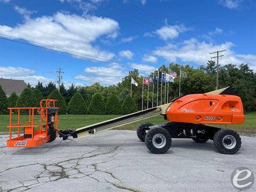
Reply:
M21 92L27 88L25 81L23 80L15 80L15 79L4 79L0 78L0 85L4 90L5 94L12 94L16 93L20 95Z

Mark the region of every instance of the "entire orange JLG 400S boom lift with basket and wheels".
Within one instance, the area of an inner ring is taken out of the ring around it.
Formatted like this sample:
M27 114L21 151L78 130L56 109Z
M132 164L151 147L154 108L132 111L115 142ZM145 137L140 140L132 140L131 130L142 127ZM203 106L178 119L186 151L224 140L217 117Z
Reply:
M242 101L235 95L233 87L226 87L204 94L190 94L176 98L165 105L138 111L101 123L81 127L76 130L58 130L58 107L56 100L42 100L38 108L10 109L10 139L7 147L36 147L52 142L57 136L66 140L69 136L83 138L157 115L163 115L169 123L153 125L142 123L137 128L137 136L146 142L147 148L155 154L165 153L171 147L171 138L190 138L204 143L211 139L223 154L234 154L241 147L241 138L233 130L220 129L205 124L243 124ZM28 110L28 122L21 123L21 110ZM35 110L39 120L35 121ZM12 124L12 112L18 111L17 124ZM38 123L38 124L36 124ZM12 129L18 129L18 137L12 138ZM23 135L20 135L20 130ZM37 129L37 130L36 130Z

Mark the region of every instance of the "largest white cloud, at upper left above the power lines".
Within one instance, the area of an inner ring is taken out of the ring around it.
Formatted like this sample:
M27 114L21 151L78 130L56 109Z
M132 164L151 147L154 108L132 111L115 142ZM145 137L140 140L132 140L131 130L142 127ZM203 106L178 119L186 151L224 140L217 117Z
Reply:
M29 28L38 31L31 31ZM38 43L70 50L73 53L79 52L107 60L113 58L114 53L101 51L98 47L93 47L91 43L99 37L117 33L118 29L118 22L113 19L93 15L87 15L86 18L83 18L76 14L60 12L57 12L52 17L43 16L26 20L23 25L13 28L0 25L0 33L6 35L29 39ZM40 33L39 31L46 31L49 34L65 38ZM74 41L71 39L74 39ZM87 57L85 55L81 56Z

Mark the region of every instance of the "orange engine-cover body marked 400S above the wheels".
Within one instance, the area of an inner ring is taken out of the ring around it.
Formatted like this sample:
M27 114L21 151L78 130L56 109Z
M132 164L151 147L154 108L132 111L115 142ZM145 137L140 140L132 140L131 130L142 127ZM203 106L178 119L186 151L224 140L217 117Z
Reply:
M166 119L184 123L243 124L243 104L235 95L190 94L171 104Z

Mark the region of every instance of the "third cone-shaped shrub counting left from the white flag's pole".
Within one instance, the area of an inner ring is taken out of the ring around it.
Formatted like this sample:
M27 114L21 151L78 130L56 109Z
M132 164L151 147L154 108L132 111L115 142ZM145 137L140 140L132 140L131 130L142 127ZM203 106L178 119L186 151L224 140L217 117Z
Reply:
M103 103L102 96L100 93L95 93L92 96L88 112L91 115L105 114L105 105Z

